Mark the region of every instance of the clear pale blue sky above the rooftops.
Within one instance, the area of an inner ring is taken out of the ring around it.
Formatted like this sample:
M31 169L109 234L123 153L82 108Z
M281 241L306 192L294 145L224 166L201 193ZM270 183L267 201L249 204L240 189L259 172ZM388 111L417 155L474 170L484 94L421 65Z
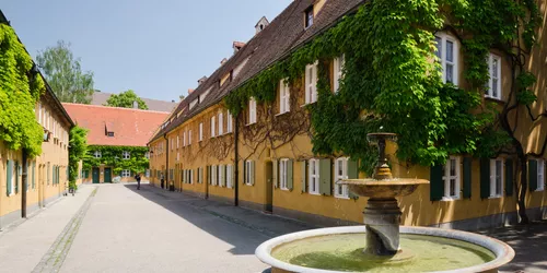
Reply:
M0 0L0 9L36 59L57 40L71 44L94 87L178 100L247 41L265 15L293 0Z

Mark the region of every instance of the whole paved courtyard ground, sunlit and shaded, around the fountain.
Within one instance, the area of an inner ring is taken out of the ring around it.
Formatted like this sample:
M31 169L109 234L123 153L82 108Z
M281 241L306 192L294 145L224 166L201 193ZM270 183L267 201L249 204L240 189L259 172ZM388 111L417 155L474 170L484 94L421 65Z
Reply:
M82 186L0 232L0 272L263 272L263 241L315 226L150 186ZM485 234L511 244L503 272L547 271L547 223Z

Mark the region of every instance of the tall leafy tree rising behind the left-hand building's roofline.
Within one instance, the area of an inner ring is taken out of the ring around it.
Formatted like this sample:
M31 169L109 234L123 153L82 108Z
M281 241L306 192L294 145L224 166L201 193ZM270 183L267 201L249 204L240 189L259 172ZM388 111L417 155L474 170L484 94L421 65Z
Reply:
M57 41L57 46L38 51L38 67L57 98L63 103L90 104L93 94L93 72L82 72L80 58L74 58L70 43Z

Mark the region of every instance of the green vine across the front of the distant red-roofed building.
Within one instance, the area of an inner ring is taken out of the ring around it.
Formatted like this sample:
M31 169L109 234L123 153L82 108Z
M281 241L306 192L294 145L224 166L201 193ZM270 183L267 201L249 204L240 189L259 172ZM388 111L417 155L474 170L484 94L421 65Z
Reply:
M94 156L95 151L101 152L100 158ZM124 152L129 152L129 159L123 158ZM83 161L83 169L91 169L104 164L113 167L115 174L120 174L124 169L131 170L131 174L144 173L149 166L149 159L146 157L148 147L90 145Z

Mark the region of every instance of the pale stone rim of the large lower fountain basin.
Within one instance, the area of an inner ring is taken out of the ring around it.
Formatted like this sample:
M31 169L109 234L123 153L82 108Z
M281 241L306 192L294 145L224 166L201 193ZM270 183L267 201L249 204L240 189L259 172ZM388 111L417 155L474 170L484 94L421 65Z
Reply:
M485 262L482 264L476 264L468 268L461 268L450 271L429 271L429 272L451 272L451 273L463 273L463 272L498 272L498 269L509 263L515 256L514 250L507 244L490 238L487 236L454 230L454 229L441 229L432 227L409 227L400 226L401 235L418 235L428 237L440 237L442 239L454 239L464 242L469 242L489 250L493 254L493 260ZM346 226L346 227L330 227L330 228L318 228L304 230L299 233L287 234L272 238L265 241L255 251L256 257L271 265L272 273L286 273L286 272L317 272L317 273L335 273L335 272L347 272L347 271L333 271L333 270L322 270L301 266L296 264L291 264L281 260L274 258L272 251L286 244L295 242L304 239L310 239L321 236L336 236L346 234L365 234L365 226Z

